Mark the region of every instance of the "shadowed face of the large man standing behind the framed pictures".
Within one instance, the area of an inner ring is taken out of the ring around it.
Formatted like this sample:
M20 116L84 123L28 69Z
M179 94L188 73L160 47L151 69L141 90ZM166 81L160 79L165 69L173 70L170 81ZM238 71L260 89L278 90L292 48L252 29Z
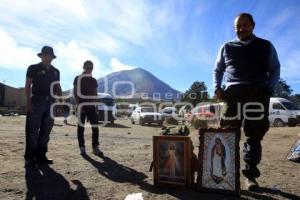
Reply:
M252 36L254 24L251 23L248 17L237 17L234 20L234 30L237 37L246 41Z

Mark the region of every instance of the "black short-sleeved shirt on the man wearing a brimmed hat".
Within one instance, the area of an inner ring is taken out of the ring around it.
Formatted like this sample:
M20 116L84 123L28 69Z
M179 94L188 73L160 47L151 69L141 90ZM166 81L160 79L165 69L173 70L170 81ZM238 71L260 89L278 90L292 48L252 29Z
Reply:
M52 65L46 68L42 63L30 65L27 68L26 77L32 78L32 94L40 96L51 96L51 84L60 80L58 69ZM56 91L53 92L56 93Z

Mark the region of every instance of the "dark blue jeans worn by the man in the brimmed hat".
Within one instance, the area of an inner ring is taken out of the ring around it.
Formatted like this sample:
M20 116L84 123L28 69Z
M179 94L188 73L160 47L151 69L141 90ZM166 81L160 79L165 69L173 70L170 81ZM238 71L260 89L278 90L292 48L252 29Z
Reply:
M32 100L32 112L26 117L26 150L25 159L42 157L48 151L49 135L54 119L50 116L51 102L39 98Z

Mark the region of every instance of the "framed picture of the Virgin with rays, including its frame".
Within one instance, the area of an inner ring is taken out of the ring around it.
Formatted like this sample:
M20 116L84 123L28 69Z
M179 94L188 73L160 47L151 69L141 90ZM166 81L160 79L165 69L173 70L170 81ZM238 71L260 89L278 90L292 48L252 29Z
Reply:
M240 194L239 129L200 129L197 189Z

